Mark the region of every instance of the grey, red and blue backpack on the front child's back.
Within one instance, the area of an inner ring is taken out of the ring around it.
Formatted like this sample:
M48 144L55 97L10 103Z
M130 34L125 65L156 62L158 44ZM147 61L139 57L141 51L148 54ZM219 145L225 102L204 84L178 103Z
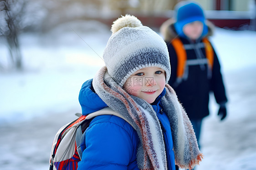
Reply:
M128 122L122 115L106 107L89 115L81 115L62 126L56 133L51 147L50 170L77 170L78 162L82 158L80 148L82 134L89 127L92 119L98 115L116 115Z

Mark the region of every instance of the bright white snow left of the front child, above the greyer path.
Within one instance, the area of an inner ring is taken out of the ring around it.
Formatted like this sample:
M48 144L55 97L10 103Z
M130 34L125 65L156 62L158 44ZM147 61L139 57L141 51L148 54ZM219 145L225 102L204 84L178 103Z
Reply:
M91 25L97 25L98 31L92 30ZM77 99L82 83L93 78L104 65L100 56L110 36L104 26L95 22L81 22L79 27L69 23L47 35L22 35L20 44L26 70L0 75L0 94L4 96L0 100L0 122L27 119L35 112L45 114L49 108L79 108ZM90 33L76 33L82 27ZM97 49L97 54L86 41ZM7 56L5 48L0 47Z

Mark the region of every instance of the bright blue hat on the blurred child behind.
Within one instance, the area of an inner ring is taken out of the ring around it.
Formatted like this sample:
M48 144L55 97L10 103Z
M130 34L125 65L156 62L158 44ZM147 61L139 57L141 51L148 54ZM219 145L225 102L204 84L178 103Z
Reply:
M208 33L207 25L205 24L205 15L202 7L193 1L181 1L175 5L176 22L174 28L177 34L181 37L186 37L183 32L184 25L194 22L201 21L204 25L202 36Z

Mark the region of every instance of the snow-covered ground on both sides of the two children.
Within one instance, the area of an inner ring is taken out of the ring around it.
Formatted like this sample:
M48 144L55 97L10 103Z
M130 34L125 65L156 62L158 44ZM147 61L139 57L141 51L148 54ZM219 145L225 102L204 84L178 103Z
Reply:
M21 35L25 70L0 73L1 170L48 169L54 135L81 112L79 90L104 65L110 35L95 21ZM211 96L201 137L205 157L197 170L256 170L256 32L216 29L211 41L222 65L228 116L219 120ZM3 42L1 62L7 63Z

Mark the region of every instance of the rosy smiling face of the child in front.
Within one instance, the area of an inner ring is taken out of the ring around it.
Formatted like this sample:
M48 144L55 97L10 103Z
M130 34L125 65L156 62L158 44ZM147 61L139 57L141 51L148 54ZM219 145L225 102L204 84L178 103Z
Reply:
M130 95L153 103L165 87L165 71L159 67L146 67L133 73L123 85Z

